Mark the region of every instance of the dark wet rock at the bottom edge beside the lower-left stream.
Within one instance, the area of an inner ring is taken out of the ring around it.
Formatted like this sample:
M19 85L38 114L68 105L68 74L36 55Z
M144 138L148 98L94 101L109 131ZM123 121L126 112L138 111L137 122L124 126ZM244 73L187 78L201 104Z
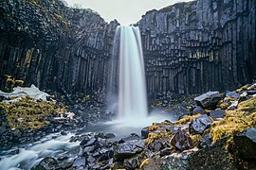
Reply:
M58 169L58 161L54 158L46 157L42 161L39 162L38 165L32 167L31 170L48 170L48 169Z

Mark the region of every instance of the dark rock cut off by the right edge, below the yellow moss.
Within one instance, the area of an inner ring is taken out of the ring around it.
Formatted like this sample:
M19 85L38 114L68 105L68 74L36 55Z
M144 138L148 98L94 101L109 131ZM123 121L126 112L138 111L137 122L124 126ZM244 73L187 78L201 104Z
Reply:
M247 128L234 136L238 152L246 159L256 159L256 128Z

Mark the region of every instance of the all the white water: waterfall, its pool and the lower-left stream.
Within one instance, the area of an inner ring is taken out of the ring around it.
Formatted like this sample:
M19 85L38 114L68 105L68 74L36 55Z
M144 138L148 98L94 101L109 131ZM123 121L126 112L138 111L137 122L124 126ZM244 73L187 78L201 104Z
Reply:
M112 106L118 104L114 109L118 111L118 119L85 128L81 133L112 132L119 139L132 132L139 134L141 127L150 126L153 122L172 120L166 114L159 115L158 111L148 114L144 61L138 27L119 26L117 28L113 55L114 60L112 60L110 71L112 87L109 88L108 96L112 100L108 98L108 102L111 102ZM70 153L79 147L79 142L68 142L71 136L71 133L66 136L58 133L51 134L39 142L2 151L0 152L0 169L30 169L46 156L55 157L58 154Z

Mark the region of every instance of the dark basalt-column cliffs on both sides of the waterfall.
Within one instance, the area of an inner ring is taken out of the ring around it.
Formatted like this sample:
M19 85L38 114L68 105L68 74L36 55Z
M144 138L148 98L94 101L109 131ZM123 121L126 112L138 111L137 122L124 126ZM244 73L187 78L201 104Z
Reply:
M148 11L137 23L147 91L228 90L256 76L254 0L198 0ZM59 0L0 1L0 81L42 90L105 90L117 21Z

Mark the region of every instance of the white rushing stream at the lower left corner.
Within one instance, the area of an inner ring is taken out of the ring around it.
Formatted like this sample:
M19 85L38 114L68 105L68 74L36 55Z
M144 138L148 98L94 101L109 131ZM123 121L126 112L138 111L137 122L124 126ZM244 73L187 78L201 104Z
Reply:
M72 135L71 133L65 136L59 133L50 134L36 143L20 145L8 151L0 152L0 169L31 169L46 156L55 157L58 154L77 150L79 142L69 142Z

